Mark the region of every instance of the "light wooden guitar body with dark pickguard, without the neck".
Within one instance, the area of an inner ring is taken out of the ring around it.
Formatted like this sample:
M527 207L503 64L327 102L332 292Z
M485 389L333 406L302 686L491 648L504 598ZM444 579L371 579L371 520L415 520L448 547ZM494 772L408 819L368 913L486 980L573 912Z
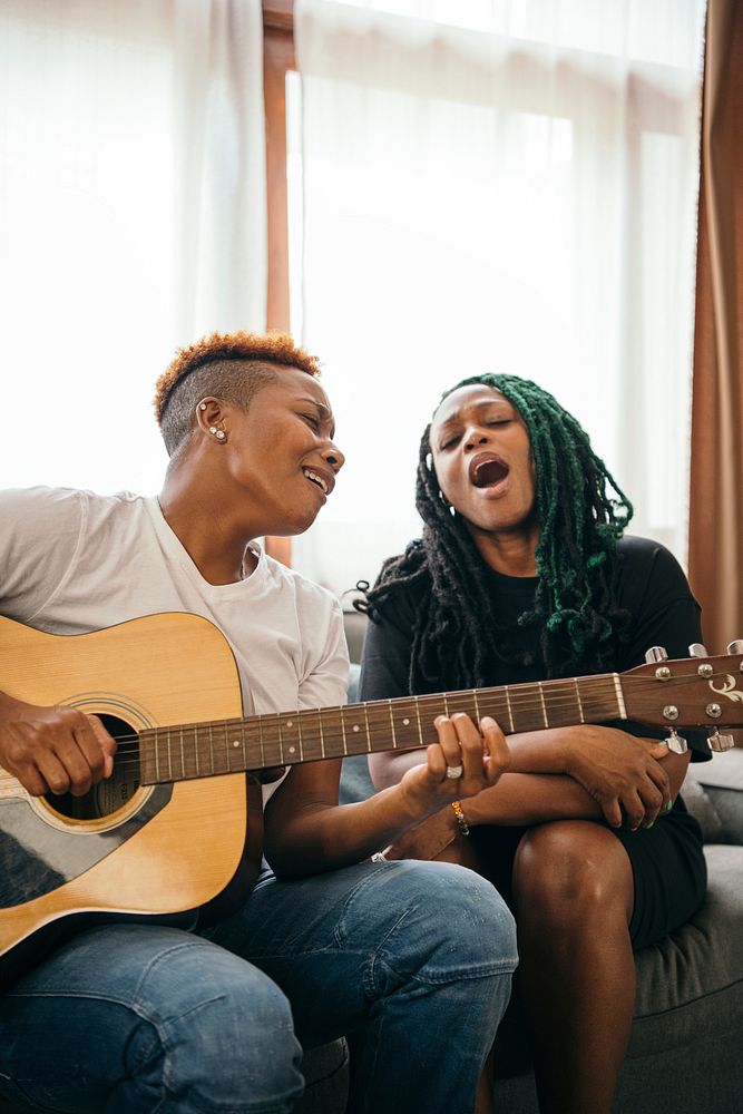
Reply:
M0 619L0 678L11 696L96 713L120 736L113 778L85 798L31 798L0 769L0 985L38 961L62 919L78 927L202 907L208 918L247 896L261 861L260 786L244 773L140 785L127 740L242 715L216 627L165 614L56 636Z

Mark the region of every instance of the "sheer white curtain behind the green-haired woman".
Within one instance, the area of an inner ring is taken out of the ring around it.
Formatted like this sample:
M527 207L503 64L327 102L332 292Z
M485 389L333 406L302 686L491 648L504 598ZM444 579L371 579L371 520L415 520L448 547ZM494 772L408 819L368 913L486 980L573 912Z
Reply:
M300 568L343 590L419 532L420 434L483 371L551 390L685 559L703 20L297 0L295 331L349 458Z

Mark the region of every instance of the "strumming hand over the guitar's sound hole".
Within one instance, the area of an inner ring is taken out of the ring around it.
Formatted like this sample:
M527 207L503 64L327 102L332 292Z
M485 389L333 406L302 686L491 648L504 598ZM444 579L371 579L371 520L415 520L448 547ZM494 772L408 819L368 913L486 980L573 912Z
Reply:
M114 770L116 741L96 715L0 693L0 765L32 797L81 797Z

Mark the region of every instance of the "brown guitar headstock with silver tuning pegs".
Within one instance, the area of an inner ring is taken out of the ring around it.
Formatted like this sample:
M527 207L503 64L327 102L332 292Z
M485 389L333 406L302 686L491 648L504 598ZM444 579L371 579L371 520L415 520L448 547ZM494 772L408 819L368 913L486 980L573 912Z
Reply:
M622 675L627 715L653 726L712 727L713 750L730 750L721 729L743 726L743 641L732 642L724 656L712 657L704 646L690 646L690 657L669 661L659 646Z

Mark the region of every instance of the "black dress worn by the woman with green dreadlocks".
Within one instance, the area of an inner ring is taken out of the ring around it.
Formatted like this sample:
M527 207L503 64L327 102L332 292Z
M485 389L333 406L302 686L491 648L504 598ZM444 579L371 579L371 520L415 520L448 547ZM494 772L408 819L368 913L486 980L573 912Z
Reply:
M664 646L668 657L686 657L688 646L701 642L700 607L675 558L663 546L645 538L624 538L618 545L618 605L630 615L626 641L617 639L607 672L624 672L645 661L649 646ZM488 685L541 681L545 668L538 633L517 626L518 616L534 604L536 577L510 577L489 571L492 613L514 632L514 646L521 662L492 659ZM412 632L419 608L426 606L430 583L401 588L369 624L361 670L360 698L389 700L410 693ZM483 632L483 635L486 632ZM515 656L514 654L509 656ZM431 692L451 687L437 678ZM615 723L635 735L665 737L645 726ZM710 756L702 732L684 732L692 759ZM607 825L608 827L608 825ZM510 901L511 864L524 827L481 825L472 838L493 864L493 879ZM635 948L661 939L683 925L698 908L706 886L702 834L681 798L669 813L636 832L609 828L624 844L632 863L635 905L630 934Z

